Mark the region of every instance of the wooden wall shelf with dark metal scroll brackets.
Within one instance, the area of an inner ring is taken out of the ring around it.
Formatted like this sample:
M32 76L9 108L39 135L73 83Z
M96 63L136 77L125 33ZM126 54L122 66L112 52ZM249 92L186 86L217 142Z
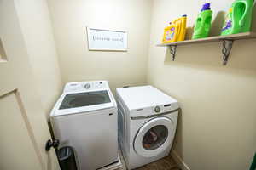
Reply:
M170 52L172 54L172 60L174 60L175 55L176 55L177 46L183 46L183 45L188 45L188 44L193 44L193 43L223 42L223 47L222 47L222 54L224 54L223 65L226 65L229 55L230 55L230 51L231 51L233 42L235 40L252 39L252 38L256 38L255 32L243 32L243 33L239 33L239 34L231 34L228 36L206 37L206 38L200 38L200 39L195 39L195 40L185 40L185 41L181 41L181 42L160 43L160 44L157 44L157 46L158 47L170 47Z

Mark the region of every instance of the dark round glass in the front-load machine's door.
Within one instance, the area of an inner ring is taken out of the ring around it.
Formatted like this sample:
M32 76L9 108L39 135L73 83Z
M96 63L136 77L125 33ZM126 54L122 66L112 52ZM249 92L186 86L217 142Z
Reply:
M168 129L164 125L152 127L143 137L143 148L155 150L165 143L168 137Z

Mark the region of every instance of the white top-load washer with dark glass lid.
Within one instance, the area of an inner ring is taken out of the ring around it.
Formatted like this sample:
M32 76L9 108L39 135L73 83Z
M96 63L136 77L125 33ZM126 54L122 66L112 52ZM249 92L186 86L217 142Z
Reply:
M107 81L67 83L50 117L55 139L74 148L79 170L118 161L117 105Z

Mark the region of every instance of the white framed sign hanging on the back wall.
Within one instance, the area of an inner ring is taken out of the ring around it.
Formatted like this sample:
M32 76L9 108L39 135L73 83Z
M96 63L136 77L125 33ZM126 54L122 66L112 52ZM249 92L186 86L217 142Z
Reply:
M127 51L127 32L87 27L89 50Z

